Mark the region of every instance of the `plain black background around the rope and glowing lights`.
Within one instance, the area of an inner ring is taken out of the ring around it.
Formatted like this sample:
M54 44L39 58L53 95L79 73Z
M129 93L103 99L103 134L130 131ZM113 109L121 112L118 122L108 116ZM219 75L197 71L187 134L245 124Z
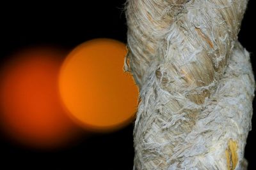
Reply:
M124 0L81 3L39 2L0 4L0 59L30 45L54 45L72 50L94 38L112 38L126 43ZM239 40L255 60L255 1L250 0ZM253 103L255 108L255 102ZM256 169L256 115L248 136L245 157L248 169ZM84 135L79 143L61 150L40 151L0 139L0 169L132 169L133 125L108 134ZM5 168L3 166L6 166Z

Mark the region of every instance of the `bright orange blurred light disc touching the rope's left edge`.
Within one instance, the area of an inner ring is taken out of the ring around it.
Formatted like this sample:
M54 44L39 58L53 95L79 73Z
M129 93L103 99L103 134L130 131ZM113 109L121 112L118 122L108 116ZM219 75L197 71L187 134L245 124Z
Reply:
M112 131L131 122L138 88L124 73L124 43L94 39L75 48L60 71L60 95L70 115L83 127Z

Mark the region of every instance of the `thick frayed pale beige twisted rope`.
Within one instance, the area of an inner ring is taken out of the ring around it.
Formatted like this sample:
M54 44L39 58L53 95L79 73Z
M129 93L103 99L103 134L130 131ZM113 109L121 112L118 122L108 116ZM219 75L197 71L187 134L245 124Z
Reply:
M246 4L127 1L125 69L140 88L134 169L242 169L255 89L237 42Z

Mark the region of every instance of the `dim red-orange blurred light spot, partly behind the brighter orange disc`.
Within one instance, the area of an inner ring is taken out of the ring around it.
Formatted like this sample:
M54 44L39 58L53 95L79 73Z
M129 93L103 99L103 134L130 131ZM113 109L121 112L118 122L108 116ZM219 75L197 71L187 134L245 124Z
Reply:
M1 128L15 142L56 148L74 138L77 127L58 94L61 56L53 48L31 48L13 55L1 69Z

